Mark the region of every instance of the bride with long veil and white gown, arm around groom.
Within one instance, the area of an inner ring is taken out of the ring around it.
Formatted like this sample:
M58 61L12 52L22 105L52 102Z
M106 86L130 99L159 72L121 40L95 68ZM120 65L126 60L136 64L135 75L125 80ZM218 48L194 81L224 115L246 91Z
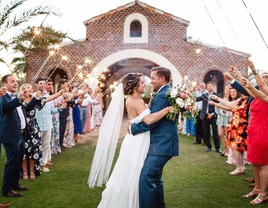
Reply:
M123 118L124 95L129 96L126 109L131 123L143 120L146 124L152 124L169 112L174 112L173 107L169 106L150 114L149 108L140 98L144 87L142 75L131 73L123 78L122 84L115 91L100 128L88 179L89 187L102 186L108 180ZM136 136L127 133L98 208L139 207L139 177L149 145L149 131Z

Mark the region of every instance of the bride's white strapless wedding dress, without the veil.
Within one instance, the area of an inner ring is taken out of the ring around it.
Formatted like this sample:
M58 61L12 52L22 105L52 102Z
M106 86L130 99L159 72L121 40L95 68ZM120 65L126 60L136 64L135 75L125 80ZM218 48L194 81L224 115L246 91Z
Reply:
M149 114L146 109L130 122L139 123ZM139 177L149 145L149 131L125 136L98 208L139 208Z

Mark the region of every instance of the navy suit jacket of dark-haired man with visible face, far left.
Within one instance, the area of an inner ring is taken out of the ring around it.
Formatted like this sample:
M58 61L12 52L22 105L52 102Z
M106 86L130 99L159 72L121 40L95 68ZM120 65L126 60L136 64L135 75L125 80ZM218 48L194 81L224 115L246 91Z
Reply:
M11 97L8 94L5 94L5 96L2 97L2 102L3 102L2 105L5 105L11 100L12 100ZM29 102L28 104L23 102L21 109L25 117L25 122L26 122L26 110L27 111L33 110L37 103L38 103L38 100L36 98L33 98L31 102ZM19 142L21 138L21 124L20 124L20 117L18 115L17 109L11 110L9 112L3 112L3 115L4 115L5 128L3 131L2 143L3 144L16 144ZM26 125L27 125L27 122L26 122Z

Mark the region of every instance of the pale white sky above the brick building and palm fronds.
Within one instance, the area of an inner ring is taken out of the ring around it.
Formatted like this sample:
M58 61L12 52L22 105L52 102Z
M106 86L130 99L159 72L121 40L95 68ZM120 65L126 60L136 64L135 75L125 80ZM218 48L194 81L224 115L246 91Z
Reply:
M4 0L8 2L10 0ZM67 32L74 39L85 39L84 21L133 2L131 0L28 0L24 5L48 4L59 11L61 17L48 16L44 25ZM252 14L262 36L268 44L268 0L143 0L142 2L159 10L190 21L187 36L203 43L226 46L230 49L251 54L255 67L268 71L268 49L256 29L249 12ZM208 12L207 12L208 11ZM19 11L18 11L19 12ZM211 18L210 18L211 16ZM226 20L227 18L227 20ZM44 16L34 18L21 28L11 30L1 38L8 38L19 33L27 26L39 26ZM231 26L230 26L231 25ZM0 38L0 39L1 39ZM11 62L12 51L2 51L0 56ZM12 66L11 66L12 67ZM0 64L1 74L9 73L8 67Z

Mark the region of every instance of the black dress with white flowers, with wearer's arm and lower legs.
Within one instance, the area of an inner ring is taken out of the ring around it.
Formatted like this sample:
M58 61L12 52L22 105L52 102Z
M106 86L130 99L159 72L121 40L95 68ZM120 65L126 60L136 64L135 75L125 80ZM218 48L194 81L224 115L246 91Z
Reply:
M42 98L34 110L26 112L27 133L25 138L25 153L23 159L34 160L34 172L36 176L41 174L40 163L42 162L42 142L35 113L36 109L41 110L44 107L46 104L45 100L46 98ZM29 164L29 161L27 163Z

